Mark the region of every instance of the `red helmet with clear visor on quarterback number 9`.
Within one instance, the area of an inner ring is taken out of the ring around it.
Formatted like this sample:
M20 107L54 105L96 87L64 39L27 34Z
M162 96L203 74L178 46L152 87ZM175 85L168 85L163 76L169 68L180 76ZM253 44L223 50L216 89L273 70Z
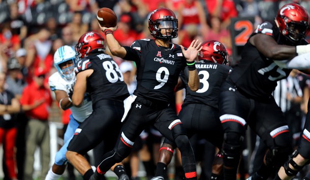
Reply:
M148 19L148 29L154 38L176 38L178 31L177 18L170 9L159 8L151 13ZM165 29L166 33L162 34L162 29ZM168 29L172 29L172 32Z

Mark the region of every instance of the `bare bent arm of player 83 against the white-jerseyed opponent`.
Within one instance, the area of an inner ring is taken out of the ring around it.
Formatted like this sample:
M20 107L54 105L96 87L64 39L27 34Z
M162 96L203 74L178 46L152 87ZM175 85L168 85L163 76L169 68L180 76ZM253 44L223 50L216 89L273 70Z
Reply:
M83 104L84 95L86 93L87 78L94 72L92 69L87 69L79 72L76 75L76 83L73 88L72 104L80 107Z

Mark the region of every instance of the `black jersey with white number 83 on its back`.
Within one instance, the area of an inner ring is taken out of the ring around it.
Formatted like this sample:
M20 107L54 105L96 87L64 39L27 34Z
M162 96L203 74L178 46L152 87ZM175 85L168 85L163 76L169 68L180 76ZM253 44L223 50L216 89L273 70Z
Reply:
M75 65L76 74L86 69L94 70L87 79L86 89L93 105L100 100L124 100L129 96L122 73L111 56L104 53L91 54Z

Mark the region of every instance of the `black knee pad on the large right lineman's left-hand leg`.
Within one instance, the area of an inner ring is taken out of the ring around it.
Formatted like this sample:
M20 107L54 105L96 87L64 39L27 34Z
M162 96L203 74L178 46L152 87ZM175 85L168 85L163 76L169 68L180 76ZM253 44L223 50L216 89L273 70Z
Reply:
M243 136L236 132L224 133L224 145L222 149L223 161L227 167L237 167L241 153Z

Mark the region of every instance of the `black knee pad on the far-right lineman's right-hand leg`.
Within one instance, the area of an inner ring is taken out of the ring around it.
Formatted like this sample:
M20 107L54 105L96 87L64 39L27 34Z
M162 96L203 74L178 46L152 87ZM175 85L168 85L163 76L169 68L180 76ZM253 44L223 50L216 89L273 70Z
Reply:
M265 157L266 166L270 168L280 168L291 152L291 146L268 149Z

